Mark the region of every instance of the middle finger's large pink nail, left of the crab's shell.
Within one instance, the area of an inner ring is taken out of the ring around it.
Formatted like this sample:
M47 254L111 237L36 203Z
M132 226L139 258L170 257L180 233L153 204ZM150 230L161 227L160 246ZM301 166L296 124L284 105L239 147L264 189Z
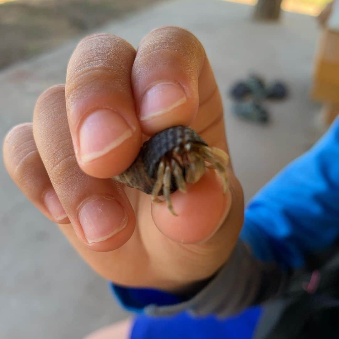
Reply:
M111 109L98 109L83 122L79 132L80 160L97 159L132 137L125 119Z

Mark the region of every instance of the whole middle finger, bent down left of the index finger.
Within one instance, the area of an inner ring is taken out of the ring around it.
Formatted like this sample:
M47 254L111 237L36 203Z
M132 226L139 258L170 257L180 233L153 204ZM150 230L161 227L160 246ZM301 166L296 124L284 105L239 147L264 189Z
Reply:
M69 129L79 166L89 175L118 175L140 150L141 129L131 87L135 53L125 40L97 34L80 41L69 61Z

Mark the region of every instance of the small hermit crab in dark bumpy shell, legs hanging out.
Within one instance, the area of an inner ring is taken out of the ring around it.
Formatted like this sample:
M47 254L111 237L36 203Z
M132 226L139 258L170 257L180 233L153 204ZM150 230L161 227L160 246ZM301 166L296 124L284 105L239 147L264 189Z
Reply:
M134 163L113 179L152 194L153 202L163 195L173 215L170 194L186 193L186 182L196 183L205 169L214 168L220 174L224 193L228 190L228 155L207 143L191 128L175 126L164 129L144 142Z

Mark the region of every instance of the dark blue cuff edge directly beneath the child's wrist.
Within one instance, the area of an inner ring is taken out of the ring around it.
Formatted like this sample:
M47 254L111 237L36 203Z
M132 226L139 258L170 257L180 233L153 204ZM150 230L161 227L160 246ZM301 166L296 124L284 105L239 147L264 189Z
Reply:
M125 310L142 313L149 305L169 306L183 302L178 296L150 288L130 288L109 282L112 293Z

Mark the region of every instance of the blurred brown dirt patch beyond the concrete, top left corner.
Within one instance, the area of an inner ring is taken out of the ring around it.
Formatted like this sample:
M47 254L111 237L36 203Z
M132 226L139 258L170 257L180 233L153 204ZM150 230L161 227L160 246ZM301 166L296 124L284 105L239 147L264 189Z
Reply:
M22 0L0 5L0 69L161 0Z

